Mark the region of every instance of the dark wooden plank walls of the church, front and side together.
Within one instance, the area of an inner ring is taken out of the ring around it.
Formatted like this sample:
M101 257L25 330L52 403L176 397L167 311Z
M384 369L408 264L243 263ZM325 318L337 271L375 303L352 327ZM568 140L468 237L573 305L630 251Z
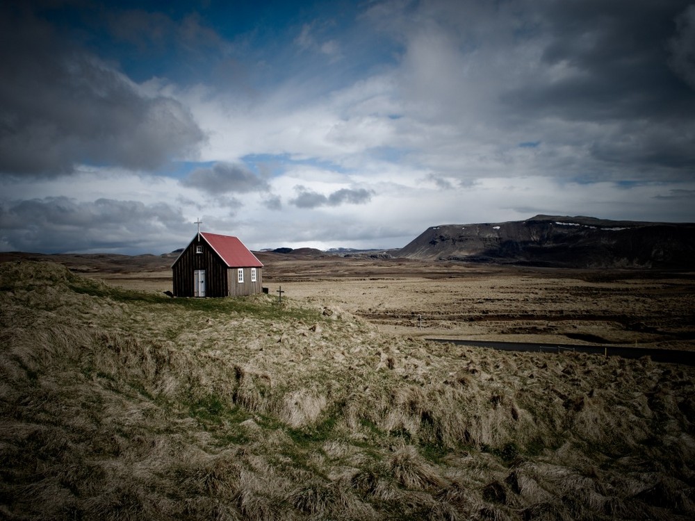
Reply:
M202 254L195 253L195 247L202 246ZM193 272L205 270L206 297L240 297L254 295L263 291L263 268L256 268L256 282L251 281L251 268L245 267L244 281L238 282L236 267L228 268L218 254L204 240L197 236L188 245L172 266L174 297L193 297Z

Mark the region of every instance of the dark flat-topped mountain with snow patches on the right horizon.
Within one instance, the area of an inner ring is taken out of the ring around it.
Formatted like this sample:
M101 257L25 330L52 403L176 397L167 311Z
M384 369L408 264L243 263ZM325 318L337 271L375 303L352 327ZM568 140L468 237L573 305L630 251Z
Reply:
M431 226L400 250L421 260L547 267L695 267L695 224L536 215Z

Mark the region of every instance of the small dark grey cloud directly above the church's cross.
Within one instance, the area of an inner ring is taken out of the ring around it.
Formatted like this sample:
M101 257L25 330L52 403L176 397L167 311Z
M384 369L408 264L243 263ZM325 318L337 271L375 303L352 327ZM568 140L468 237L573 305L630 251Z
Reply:
M215 163L211 168L193 170L181 181L184 186L198 188L210 195L229 192L247 193L268 190L268 183L244 165Z

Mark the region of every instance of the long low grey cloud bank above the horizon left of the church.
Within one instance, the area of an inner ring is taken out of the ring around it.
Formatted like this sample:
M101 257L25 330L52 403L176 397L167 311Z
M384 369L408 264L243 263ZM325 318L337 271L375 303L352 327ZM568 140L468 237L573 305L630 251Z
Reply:
M97 199L76 202L46 197L5 202L0 206L0 240L5 249L60 253L101 249L123 252L156 248L163 231L190 231L179 210L167 204Z

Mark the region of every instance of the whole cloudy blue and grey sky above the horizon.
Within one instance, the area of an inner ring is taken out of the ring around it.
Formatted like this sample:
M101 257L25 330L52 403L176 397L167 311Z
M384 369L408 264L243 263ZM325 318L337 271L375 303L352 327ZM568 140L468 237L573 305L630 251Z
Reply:
M0 251L695 222L695 3L0 3Z

